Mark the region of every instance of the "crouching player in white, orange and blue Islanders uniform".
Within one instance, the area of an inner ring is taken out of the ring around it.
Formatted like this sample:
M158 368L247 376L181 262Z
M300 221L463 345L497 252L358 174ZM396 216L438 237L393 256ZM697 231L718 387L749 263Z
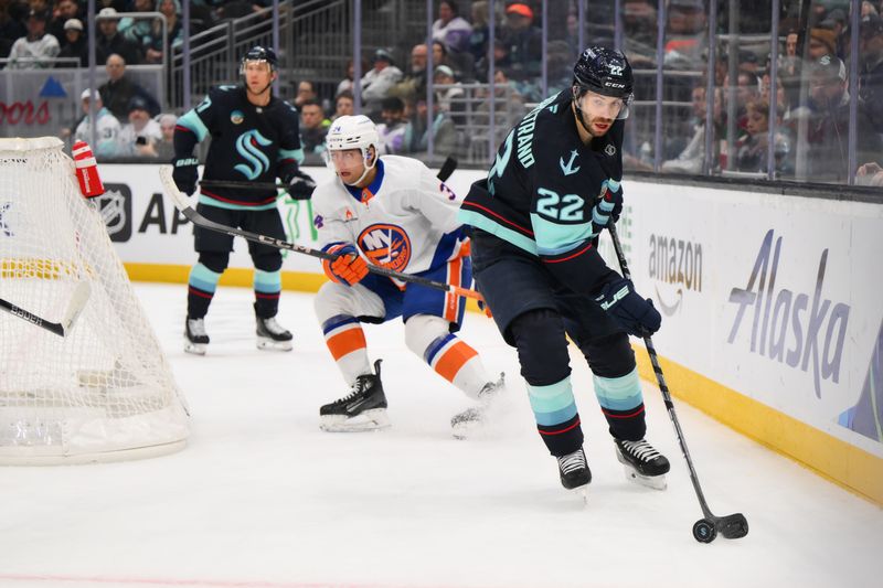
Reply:
M374 371L361 323L405 322L405 344L476 406L451 419L454 436L467 437L487 419L502 389L478 353L455 333L466 301L417 284L369 274L368 264L468 288L469 242L456 220L460 199L415 159L380 157L381 142L365 116L342 116L326 137L336 177L313 193L315 225L331 281L316 297L326 343L351 393L320 408L321 428L357 431L387 427L386 397Z

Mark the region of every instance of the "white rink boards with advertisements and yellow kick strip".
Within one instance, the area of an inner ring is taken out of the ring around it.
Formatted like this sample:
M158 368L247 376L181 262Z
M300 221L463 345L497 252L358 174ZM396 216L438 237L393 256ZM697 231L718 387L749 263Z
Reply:
M192 228L157 168L103 165L102 177L132 279L185 282ZM460 192L479 177L457 171L449 183ZM653 342L672 393L883 504L883 206L628 179L624 189L619 233L638 291L662 313ZM311 204L279 207L289 238L315 245ZM317 259L285 254L285 289L325 281ZM221 284L252 285L245 242Z

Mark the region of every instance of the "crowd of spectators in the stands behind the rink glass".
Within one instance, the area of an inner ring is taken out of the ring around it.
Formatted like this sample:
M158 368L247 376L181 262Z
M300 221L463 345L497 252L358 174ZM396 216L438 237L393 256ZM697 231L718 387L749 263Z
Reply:
M588 22L583 43L611 45L614 3L586 1ZM663 172L703 173L710 167L713 173L733 171L764 175L768 173L769 129L775 126L773 152L777 177L843 181L850 173L858 172L860 182L877 181L876 170L883 159L883 21L880 15L883 0L863 0L858 4L849 0L812 2L808 18L799 14L805 2L780 2L780 28L773 35L780 40L773 121L769 120L773 98L770 3L738 1L737 28L746 36L735 46L726 40L717 41L714 94L709 99L709 2L666 0L661 65L667 105L662 150L657 158L652 132L656 75L639 74L635 90L638 104L628 122L630 130L625 146L627 167L649 170L658 160ZM193 0L195 29L192 32L268 3L268 0ZM657 67L658 3L658 0L621 2L623 50L638 71L655 72ZM564 4L568 7L566 14L550 14L545 94L570 86L571 68L584 49L579 44L576 2ZM81 64L86 63L85 6L83 0L0 0L0 57L9 57L7 67L41 67L51 57L73 57ZM466 7L465 11L461 6ZM560 8L561 4L555 6ZM730 12L722 10L722 6L726 3L719 1L721 33L730 30ZM853 6L860 10L858 31L851 26ZM509 126L545 97L541 76L540 0L493 2L492 46L490 2L442 0L435 2L435 7L437 19L432 24L428 46L417 43L405 51L394 43L381 43L360 64L359 79L350 61L336 87L327 79L322 83L300 79L296 85L286 81L284 87L294 88L294 95L283 97L300 111L302 142L311 162L321 160L325 135L333 120L354 111L357 89L362 111L380 125L385 150L416 157L427 151L430 135L434 151L440 156L462 154L470 146L481 145L476 152L487 157L489 141L499 143ZM178 0L97 2L96 56L108 74L108 82L99 88L103 111L106 111L102 116L113 116L120 124L119 154L164 157L162 129L158 130L163 120L159 104L156 97L126 78L125 67L162 62L163 53L181 41L180 9ZM132 11L157 11L163 15L168 31L164 46L160 21L126 15ZM849 63L853 34L858 35L859 46L854 137L859 169L850 170ZM757 41L758 38L763 41ZM432 72L427 71L429 52ZM487 84L491 66L494 96L490 96ZM432 105L427 104L430 79ZM321 88L330 90L323 93ZM706 162L705 125L710 104L713 105L713 153ZM496 128L494 137L488 137L491 122ZM129 130L125 130L127 126ZM75 129L76 125L71 128ZM105 128L113 132L111 125Z

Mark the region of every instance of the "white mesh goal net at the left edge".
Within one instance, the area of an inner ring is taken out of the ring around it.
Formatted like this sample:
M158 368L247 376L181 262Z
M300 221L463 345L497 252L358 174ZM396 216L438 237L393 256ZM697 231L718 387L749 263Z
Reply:
M108 461L183 446L187 409L100 215L54 138L0 139L0 463Z

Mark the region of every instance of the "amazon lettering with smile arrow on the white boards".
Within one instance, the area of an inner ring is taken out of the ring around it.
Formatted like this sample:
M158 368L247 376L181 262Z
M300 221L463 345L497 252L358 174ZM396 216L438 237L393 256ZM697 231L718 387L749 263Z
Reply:
M664 235L650 235L650 278L656 280L656 299L663 314L681 307L684 291L702 291L702 244Z

